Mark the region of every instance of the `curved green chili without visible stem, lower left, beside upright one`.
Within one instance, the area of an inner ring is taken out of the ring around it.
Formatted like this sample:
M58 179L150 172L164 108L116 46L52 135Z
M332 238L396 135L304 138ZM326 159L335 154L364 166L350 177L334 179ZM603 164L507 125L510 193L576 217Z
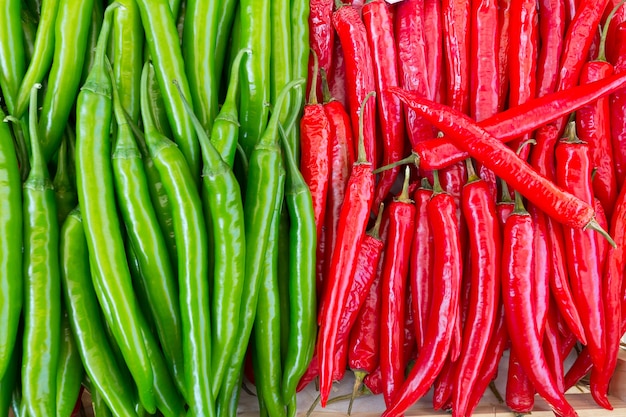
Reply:
M97 390L115 415L136 417L135 389L117 365L98 308L83 219L78 209L65 219L59 246L65 307L83 366L91 381L92 398L94 390Z

